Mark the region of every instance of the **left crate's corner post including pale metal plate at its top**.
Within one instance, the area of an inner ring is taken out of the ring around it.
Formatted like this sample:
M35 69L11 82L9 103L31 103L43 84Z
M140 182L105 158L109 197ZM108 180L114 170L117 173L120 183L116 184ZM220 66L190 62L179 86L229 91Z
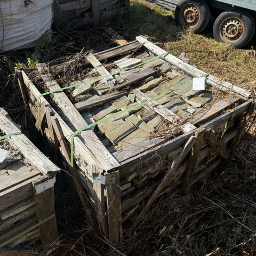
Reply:
M37 219L41 223L39 229L43 247L46 247L58 237L54 211L55 181L54 176L52 179L45 178L44 182L42 180L33 182Z

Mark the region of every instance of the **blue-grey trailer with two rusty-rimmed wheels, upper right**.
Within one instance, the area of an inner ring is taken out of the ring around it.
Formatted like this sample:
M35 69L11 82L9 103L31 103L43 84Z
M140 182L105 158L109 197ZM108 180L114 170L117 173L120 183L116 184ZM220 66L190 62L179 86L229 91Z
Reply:
M178 26L200 33L215 19L213 36L234 47L248 44L255 31L256 0L157 0L157 4L175 9Z

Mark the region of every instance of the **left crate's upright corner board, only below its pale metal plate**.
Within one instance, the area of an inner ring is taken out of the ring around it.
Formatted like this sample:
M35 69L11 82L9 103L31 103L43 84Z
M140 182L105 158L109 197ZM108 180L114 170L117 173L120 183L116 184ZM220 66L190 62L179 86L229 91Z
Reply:
M35 186L38 182L34 182L34 195L36 202L36 211L38 221L44 221L49 218L51 215L55 214L54 212L54 187L44 190L42 193L36 194ZM39 226L41 241L44 248L47 247L51 242L53 242L58 237L57 221L54 216L50 220L42 223Z

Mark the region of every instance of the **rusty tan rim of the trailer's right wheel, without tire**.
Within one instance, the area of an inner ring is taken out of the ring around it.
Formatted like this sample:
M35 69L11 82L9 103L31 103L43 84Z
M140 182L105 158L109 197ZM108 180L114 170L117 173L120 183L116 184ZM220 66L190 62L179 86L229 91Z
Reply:
M229 17L221 22L219 34L223 42L236 43L244 36L244 22L237 17Z

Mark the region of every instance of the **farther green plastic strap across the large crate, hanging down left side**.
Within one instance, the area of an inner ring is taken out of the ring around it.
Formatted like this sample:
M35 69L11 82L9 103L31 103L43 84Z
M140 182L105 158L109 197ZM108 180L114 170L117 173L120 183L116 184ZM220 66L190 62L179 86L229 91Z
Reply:
M153 58L150 58L149 60L146 60L146 61L143 61L133 67L130 67L130 68L124 68L124 69L121 69L121 70L118 70L118 71L114 71L112 73L110 73L109 75L106 75L106 76L101 76L101 77L97 77L97 78L91 78L91 81L93 81L94 83L96 82L99 82L101 81L102 79L105 79L109 76L115 76L115 75L118 75L118 74L122 74L123 72L127 71L127 70L131 70L131 69L134 69L134 68L138 68L150 61L153 61L155 59L159 59L159 58L162 58L162 57L165 57L166 55L168 55L169 53L163 53L163 54L160 54L160 55L157 55ZM66 86L66 87L63 87L63 88L60 88L60 89L55 89L55 90L52 90L52 91L49 91L49 92L45 92L45 93L42 93L42 94L39 94L38 97L36 98L36 108L37 108L37 120L38 120L38 123L39 123L39 130L41 131L42 135L43 135L43 131L42 131L42 127L41 127L41 118L40 118L40 115L39 115L39 100L41 97L45 96L45 95L48 95L48 94L52 94L52 93L55 93L55 92L62 92L64 90L67 90L67 89L71 89L71 88L74 88L74 87L77 87L77 86L81 86L81 85L84 85L86 84L87 82L81 82L81 83L77 83L77 84L74 84L74 85L69 85L69 86Z

